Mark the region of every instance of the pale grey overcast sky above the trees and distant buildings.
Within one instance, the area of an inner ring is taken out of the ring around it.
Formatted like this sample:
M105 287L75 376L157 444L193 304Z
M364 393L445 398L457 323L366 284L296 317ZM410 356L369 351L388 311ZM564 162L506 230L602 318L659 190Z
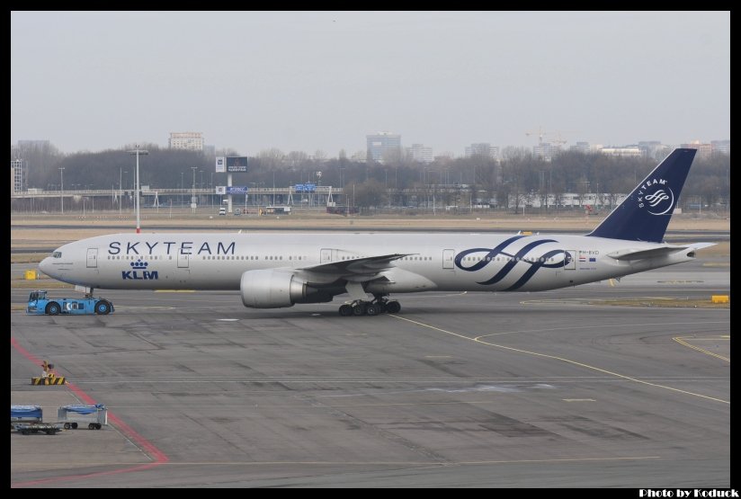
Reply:
M730 138L730 13L11 14L11 144L435 155ZM533 135L526 135L528 131Z

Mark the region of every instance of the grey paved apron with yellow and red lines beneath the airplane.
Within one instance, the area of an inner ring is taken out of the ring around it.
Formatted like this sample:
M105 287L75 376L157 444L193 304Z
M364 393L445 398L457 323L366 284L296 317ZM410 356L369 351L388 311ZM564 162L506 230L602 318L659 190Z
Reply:
M722 265L401 295L395 316L104 290L110 316L13 312L11 404L94 400L112 424L12 433L11 485L729 487L729 309L581 302L710 299ZM31 387L39 359L72 385Z

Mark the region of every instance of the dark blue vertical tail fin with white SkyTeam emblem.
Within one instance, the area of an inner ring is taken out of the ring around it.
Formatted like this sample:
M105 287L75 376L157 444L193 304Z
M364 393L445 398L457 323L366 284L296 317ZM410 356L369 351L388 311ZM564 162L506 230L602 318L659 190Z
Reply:
M674 149L587 236L661 243L697 149Z

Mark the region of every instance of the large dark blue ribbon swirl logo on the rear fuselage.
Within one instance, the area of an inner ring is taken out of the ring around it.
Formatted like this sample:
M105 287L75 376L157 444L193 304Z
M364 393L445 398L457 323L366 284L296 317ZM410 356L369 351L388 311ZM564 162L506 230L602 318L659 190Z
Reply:
M535 272L538 272L541 267L545 267L548 269L558 269L565 267L568 263L571 262L571 255L568 254L567 251L564 251L562 249L550 250L544 254L538 254L535 257L525 259L525 256L537 246L545 245L546 243L558 243L558 241L554 239L536 239L534 241L531 241L527 245L522 246L522 248L514 253L506 251L508 246L512 245L515 241L522 239L522 237L527 236L510 237L509 239L504 240L499 245L496 245L494 248L471 248L465 251L461 251L455 256L455 266L458 267L461 271L477 272L486 267L489 263L496 262L497 256L502 255L506 257L504 265L501 269L499 269L498 272L495 273L494 276L492 276L490 279L487 279L486 281L478 281L478 284L491 285L502 281L507 275L509 275L510 272L513 271L515 267L517 267L518 263L525 263L529 265L527 270L522 273L520 279L514 282L512 286L504 290L514 291L519 290L527 281L530 281L531 277L535 275ZM476 263L473 263L470 266L464 265L464 263L467 262L466 257L469 256L469 254L480 253L486 253L486 256L482 257L481 260L478 260L477 258ZM557 255L561 255L562 258L557 259L556 262L549 263L549 259ZM520 265L520 268L522 268L522 265Z

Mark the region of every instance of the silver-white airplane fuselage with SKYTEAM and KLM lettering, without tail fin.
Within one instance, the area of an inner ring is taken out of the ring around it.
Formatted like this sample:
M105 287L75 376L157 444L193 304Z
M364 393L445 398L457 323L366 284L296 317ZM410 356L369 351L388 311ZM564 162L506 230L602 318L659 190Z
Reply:
M610 256L665 246L542 234L115 234L63 245L40 270L93 289L239 290L247 271L301 272L326 263L404 254L379 272L383 279L367 281L366 291L540 291L692 260L683 251L636 260Z

